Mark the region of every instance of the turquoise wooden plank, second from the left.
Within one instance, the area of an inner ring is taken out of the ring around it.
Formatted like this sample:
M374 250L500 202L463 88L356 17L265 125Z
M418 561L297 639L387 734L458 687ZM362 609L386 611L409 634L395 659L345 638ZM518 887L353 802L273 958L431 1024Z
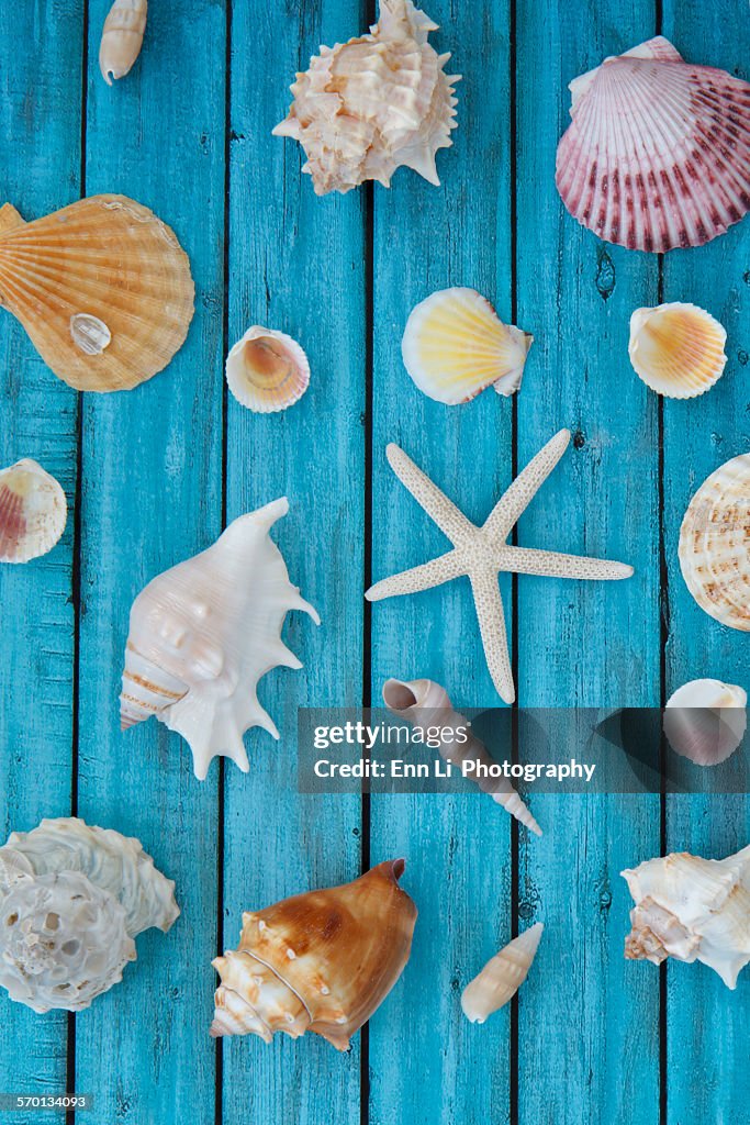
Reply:
M124 981L76 1017L90 1125L214 1119L210 958L217 917L217 773L154 721L120 734L128 613L154 575L214 541L222 519L223 3L151 4L141 58L110 89L98 68L108 9L90 4L87 192L117 191L175 231L196 317L172 364L83 406L79 809L137 836L177 880L173 930L138 940Z

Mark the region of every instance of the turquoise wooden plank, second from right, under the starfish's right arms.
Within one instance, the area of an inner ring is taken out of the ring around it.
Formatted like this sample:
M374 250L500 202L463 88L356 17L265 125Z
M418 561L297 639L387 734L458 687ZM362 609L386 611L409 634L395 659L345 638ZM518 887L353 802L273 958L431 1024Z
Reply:
M652 21L647 2L518 6L518 317L536 335L518 396L519 465L560 426L575 435L519 541L635 567L611 584L519 578L526 706L659 698L657 406L627 358L630 314L654 302L657 261L599 243L554 186L567 83L653 34ZM518 1122L656 1123L659 986L623 958L618 873L658 852L659 800L551 795L537 817L546 832L522 839L518 915L546 929L519 996Z

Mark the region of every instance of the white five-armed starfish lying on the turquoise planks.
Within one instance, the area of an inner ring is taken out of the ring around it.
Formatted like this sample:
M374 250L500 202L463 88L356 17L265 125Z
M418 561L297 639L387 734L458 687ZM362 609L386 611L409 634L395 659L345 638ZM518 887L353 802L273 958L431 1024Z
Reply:
M471 582L487 667L498 694L506 703L516 698L508 655L508 639L503 615L503 601L497 576L503 570L513 574L536 574L554 578L630 578L632 566L608 562L580 555L513 547L507 542L512 529L564 453L570 431L560 430L530 461L478 528L467 520L448 496L417 468L398 446L386 450L388 462L416 502L434 520L453 543L453 550L410 570L383 578L367 591L370 602L396 594L415 594L441 586L452 578L467 575Z

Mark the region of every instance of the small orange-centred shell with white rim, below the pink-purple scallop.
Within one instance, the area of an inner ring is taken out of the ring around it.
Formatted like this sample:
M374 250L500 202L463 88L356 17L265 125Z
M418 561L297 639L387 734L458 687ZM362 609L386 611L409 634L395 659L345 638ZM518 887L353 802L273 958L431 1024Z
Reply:
M630 360L643 382L666 398L695 398L721 378L726 332L697 305L636 308L630 320Z

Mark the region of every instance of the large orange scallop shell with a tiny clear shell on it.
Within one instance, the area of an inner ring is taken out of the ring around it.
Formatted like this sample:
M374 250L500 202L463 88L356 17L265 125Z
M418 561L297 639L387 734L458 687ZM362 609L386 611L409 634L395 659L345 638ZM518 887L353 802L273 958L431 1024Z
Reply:
M125 196L92 196L24 223L0 210L0 302L78 390L127 390L180 350L193 313L172 231Z

